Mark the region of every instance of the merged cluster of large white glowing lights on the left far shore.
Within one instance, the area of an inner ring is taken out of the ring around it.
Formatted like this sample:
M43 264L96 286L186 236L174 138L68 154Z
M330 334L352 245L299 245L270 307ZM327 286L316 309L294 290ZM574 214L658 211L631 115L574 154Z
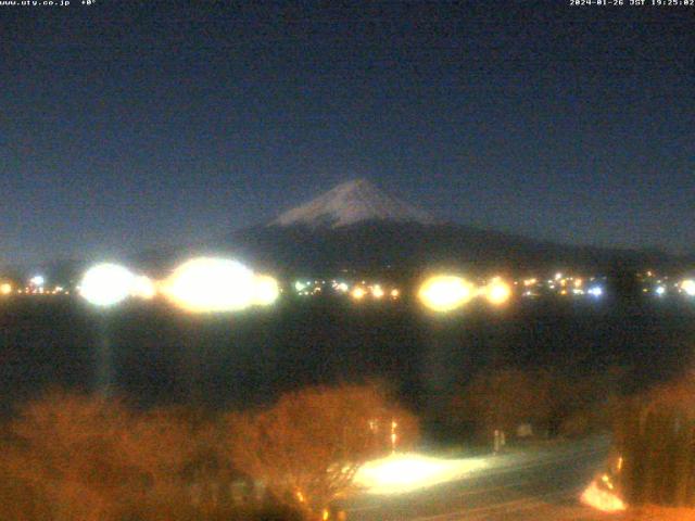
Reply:
M237 312L273 304L280 290L276 279L254 274L243 264L217 257L199 257L177 267L162 281L136 275L117 264L99 264L85 274L78 287L90 304L109 307L128 297L162 295L191 313Z

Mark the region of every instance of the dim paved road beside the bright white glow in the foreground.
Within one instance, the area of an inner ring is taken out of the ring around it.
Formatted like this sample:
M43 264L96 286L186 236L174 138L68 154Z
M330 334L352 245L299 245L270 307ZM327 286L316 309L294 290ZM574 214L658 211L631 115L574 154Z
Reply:
M602 470L608 445L607 437L595 436L494 456L455 481L403 494L364 494L344 507L350 521L580 521L589 516L572 505Z

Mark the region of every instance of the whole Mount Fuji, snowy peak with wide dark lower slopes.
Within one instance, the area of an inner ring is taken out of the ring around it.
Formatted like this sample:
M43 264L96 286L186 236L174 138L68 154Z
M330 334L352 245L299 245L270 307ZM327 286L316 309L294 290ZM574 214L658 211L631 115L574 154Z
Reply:
M571 266L596 272L615 265L658 268L674 260L657 251L557 244L443 221L365 179L343 182L266 224L204 244L157 249L139 259L172 266L195 253L230 255L288 276L384 269L420 274L437 267L535 272Z

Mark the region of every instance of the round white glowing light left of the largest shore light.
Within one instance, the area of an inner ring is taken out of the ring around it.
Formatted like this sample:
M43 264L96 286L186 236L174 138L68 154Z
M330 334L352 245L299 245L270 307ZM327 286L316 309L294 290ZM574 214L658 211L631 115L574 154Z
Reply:
M135 276L117 264L99 264L85 274L79 284L81 296L96 306L118 304L130 295Z

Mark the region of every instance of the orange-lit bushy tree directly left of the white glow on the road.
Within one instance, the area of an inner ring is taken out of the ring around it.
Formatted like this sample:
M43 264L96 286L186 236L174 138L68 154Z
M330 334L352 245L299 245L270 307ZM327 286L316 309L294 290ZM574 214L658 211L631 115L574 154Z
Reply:
M228 418L229 456L277 499L320 519L367 460L417 435L415 418L372 385L309 387Z

